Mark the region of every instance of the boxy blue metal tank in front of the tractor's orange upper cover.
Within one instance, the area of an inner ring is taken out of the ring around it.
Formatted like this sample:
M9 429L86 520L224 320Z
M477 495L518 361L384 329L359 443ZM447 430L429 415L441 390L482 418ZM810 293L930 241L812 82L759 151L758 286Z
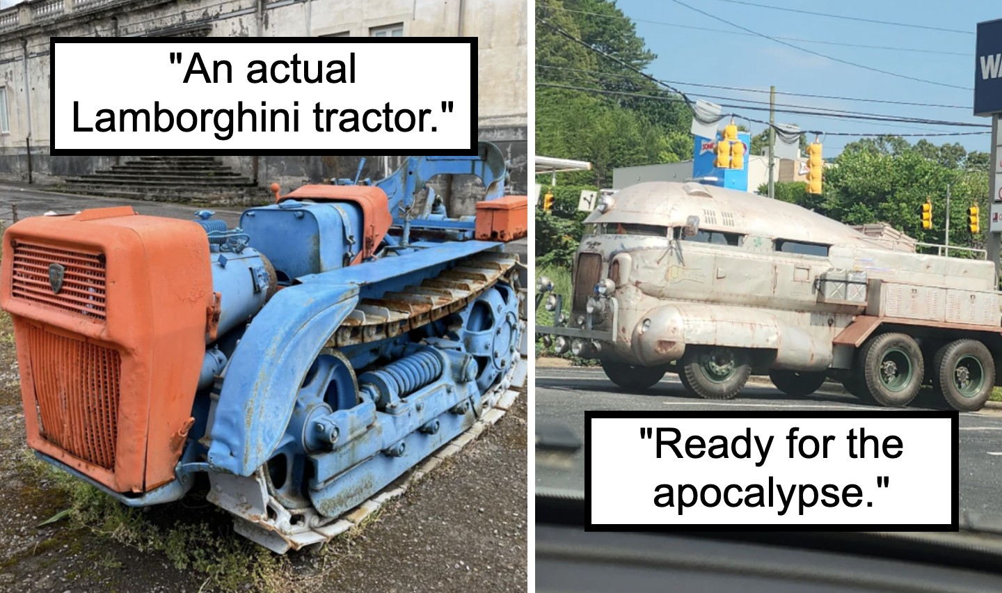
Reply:
M342 267L354 258L361 247L362 210L348 201L286 200L245 210L240 227L272 261L280 281L288 281Z

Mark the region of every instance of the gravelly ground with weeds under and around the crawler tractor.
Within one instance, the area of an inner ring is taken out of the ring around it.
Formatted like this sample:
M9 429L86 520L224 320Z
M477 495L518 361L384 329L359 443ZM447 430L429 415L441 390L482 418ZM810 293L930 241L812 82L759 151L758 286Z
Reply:
M29 461L11 329L6 316L2 321L0 591L208 590L203 575L176 569L159 552L143 553L66 521L38 527L69 501ZM288 555L271 579L273 588L525 591L526 415L521 396L496 425L384 506L363 529L323 552ZM199 502L156 507L147 520L180 517L227 532L228 519Z

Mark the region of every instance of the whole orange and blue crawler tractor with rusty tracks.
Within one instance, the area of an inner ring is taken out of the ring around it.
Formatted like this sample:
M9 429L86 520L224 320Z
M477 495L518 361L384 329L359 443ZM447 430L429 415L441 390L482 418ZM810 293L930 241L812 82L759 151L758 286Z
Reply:
M442 173L480 177L477 218L524 217L481 143L375 182L273 186L234 228L131 206L12 225L0 306L29 446L131 507L207 476L236 532L279 553L344 531L524 381L518 257L448 216Z

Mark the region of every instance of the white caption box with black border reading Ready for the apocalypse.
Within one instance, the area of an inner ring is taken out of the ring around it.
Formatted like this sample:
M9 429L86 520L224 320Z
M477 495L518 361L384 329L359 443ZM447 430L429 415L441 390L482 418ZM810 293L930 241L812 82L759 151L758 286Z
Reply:
M957 521L956 413L587 414L596 528Z

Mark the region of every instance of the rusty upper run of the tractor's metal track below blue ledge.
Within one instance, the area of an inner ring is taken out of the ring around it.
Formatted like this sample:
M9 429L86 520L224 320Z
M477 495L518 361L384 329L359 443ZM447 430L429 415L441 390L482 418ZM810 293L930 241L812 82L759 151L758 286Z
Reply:
M460 259L420 284L382 299L363 299L327 342L339 348L377 342L420 328L462 310L512 273L518 256L484 251Z

